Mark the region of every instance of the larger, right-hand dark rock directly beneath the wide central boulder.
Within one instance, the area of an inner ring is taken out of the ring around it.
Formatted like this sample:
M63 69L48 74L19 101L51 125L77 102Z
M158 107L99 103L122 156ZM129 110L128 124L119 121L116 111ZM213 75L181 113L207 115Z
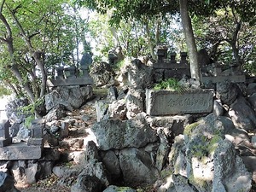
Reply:
M150 155L138 148L120 150L119 162L125 183L152 184L159 175Z

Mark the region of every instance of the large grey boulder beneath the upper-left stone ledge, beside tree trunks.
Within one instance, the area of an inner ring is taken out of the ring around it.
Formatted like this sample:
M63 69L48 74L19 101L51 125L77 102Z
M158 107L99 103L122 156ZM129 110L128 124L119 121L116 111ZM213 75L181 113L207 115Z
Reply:
M73 111L80 108L92 95L91 86L59 86L45 96L45 108L49 112L55 106L63 105L67 110Z

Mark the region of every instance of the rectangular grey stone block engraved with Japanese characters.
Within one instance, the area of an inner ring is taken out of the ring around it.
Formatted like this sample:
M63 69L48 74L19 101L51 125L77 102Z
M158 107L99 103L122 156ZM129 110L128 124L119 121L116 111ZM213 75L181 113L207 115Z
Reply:
M214 90L146 90L146 112L152 116L211 113Z

